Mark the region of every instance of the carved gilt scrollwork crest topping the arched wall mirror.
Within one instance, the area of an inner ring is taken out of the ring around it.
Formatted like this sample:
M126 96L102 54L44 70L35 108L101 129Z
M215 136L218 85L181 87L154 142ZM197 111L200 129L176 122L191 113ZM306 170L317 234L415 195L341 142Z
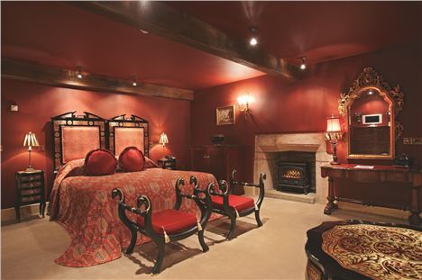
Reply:
M340 94L340 100L338 104L338 112L344 115L346 106L350 102L350 98L353 93L359 92L362 87L365 86L377 86L382 92L390 95L390 98L394 101L394 114L397 114L403 110L404 105L404 94L401 91L400 86L391 88L389 84L384 80L384 77L379 75L372 68L364 68L361 75L353 82L353 86L349 88L347 93Z

